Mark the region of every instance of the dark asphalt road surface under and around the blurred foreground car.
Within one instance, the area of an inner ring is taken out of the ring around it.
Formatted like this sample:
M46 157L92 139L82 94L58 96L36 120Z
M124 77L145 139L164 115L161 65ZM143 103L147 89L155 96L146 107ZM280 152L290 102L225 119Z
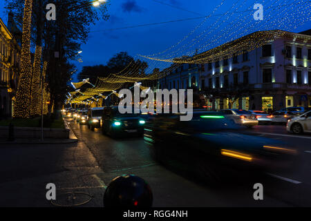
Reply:
M290 171L268 171L250 177L234 176L218 188L202 184L189 174L154 162L142 137L112 139L100 129L91 131L68 119L79 145L89 149L100 171L94 175L106 186L114 177L135 174L153 190L153 206L311 206L311 135L292 135L285 126L255 126L254 135L283 140L299 148L299 165ZM78 159L72 159L78 160ZM77 162L78 163L78 162ZM264 200L254 200L253 185L263 184ZM104 188L97 194L102 194ZM94 205L94 204L89 204ZM87 206L87 205L86 205ZM102 206L102 204L95 204Z

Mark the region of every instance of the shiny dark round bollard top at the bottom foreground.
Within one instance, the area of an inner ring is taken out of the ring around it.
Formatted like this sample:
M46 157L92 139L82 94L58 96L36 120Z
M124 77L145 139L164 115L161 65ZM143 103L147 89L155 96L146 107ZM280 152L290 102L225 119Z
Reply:
M153 195L150 186L141 177L115 177L104 193L106 207L151 207Z

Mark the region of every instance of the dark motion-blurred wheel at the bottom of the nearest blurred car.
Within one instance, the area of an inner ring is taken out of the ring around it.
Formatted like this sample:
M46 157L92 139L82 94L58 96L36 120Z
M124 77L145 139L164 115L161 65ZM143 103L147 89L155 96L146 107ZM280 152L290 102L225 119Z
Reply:
M196 175L209 186L218 186L221 182L219 170L209 159L200 158L196 164Z

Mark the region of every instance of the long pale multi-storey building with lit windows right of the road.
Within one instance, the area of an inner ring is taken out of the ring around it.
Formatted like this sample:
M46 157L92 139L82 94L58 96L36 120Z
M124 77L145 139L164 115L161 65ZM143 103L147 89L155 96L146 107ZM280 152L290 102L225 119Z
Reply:
M241 55L192 66L196 66L195 71L188 68L179 77L175 73L160 79L159 87L177 88L171 82L189 79L189 86L196 86L199 93L206 95L211 110L278 111L290 106L311 107L310 35L286 32ZM174 68L169 70L174 73Z

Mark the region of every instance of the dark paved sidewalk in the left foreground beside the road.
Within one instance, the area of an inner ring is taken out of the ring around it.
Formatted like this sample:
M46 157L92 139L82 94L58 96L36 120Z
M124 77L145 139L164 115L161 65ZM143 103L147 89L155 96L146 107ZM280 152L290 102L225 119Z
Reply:
M102 206L103 172L84 143L18 142L0 143L0 206L55 206L46 200L48 183L56 185L56 204Z

